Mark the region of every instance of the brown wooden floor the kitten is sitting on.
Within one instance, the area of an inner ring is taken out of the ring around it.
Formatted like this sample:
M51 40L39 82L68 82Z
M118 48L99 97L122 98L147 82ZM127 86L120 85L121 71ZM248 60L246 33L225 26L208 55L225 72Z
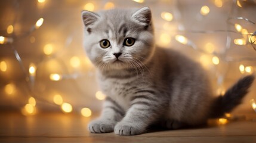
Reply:
M218 125L181 130L154 130L137 136L94 134L91 120L76 114L48 113L25 117L0 113L0 142L256 142L256 114Z

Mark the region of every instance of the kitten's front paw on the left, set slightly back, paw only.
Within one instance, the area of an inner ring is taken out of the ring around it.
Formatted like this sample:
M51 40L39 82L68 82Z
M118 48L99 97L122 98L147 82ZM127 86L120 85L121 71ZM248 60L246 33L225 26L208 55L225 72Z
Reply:
M115 123L109 120L93 120L88 125L91 133L108 133L113 132Z

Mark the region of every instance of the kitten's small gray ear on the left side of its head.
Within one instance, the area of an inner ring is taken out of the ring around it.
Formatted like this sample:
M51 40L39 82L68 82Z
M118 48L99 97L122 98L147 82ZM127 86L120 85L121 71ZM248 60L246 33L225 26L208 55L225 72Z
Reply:
M82 11L82 20L85 26L94 24L100 16L98 14L92 13L91 11Z

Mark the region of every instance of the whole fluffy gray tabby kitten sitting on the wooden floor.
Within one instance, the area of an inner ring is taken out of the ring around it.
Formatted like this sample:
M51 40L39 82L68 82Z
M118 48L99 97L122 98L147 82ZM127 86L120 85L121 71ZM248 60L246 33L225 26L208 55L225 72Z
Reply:
M214 97L202 67L171 49L155 46L151 11L82 11L84 46L107 95L92 133L137 135L150 125L178 129L233 110L254 76Z

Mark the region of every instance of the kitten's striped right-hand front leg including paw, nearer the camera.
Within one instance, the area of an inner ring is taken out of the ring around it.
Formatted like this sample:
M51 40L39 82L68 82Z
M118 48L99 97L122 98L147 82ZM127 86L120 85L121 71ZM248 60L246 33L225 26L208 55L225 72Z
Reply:
M162 102L149 100L148 97L142 95L140 98L132 102L131 107L127 111L124 119L115 126L115 134L117 135L138 135L145 132L146 128L158 118L161 112Z

